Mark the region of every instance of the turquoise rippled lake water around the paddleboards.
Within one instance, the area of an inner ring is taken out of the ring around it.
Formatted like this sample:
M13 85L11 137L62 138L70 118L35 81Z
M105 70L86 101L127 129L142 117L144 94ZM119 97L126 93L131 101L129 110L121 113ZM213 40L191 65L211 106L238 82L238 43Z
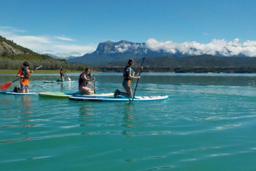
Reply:
M123 90L121 73L95 77L96 93ZM0 74L0 84L16 78ZM30 92L77 91L77 83L43 83L57 79L35 72ZM14 86L19 82L7 90ZM0 94L0 170L256 170L256 74L141 73L136 95L170 98L114 103Z

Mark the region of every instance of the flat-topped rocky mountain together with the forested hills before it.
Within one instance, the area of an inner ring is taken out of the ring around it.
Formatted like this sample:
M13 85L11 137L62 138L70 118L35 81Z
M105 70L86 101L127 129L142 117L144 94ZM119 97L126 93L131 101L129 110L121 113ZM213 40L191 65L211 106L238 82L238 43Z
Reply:
M218 54L218 53L217 53ZM230 66L252 66L256 58L245 57L223 57L213 55L191 56L176 51L175 54L164 50L153 51L145 43L133 43L126 40L119 42L106 41L99 43L97 49L81 57L68 59L67 62L86 63L91 66L123 66L128 59L141 60L146 57L149 65L155 67L169 66L202 66L202 67L230 67ZM254 65L255 66L255 65Z

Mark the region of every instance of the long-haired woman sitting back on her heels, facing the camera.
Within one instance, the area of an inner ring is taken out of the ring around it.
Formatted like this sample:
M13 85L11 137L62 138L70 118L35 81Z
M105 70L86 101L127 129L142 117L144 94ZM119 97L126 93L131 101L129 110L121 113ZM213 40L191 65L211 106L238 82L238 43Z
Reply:
M79 79L78 79L78 90L80 90L80 94L88 94L91 95L93 94L93 90L87 87L87 85L90 85L92 88L95 88L90 81L95 81L95 78L93 77L91 79L91 71L89 68L86 68L85 71L80 74Z

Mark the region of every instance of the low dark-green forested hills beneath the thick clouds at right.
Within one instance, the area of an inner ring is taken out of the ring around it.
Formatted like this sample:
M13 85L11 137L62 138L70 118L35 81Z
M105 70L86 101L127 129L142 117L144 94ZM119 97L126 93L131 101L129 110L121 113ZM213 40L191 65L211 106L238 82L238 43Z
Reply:
M142 59L137 59L139 66ZM109 62L103 67L125 66L127 61ZM147 67L256 67L256 58L253 57L219 57L213 55L197 55L186 57L160 56L146 58Z

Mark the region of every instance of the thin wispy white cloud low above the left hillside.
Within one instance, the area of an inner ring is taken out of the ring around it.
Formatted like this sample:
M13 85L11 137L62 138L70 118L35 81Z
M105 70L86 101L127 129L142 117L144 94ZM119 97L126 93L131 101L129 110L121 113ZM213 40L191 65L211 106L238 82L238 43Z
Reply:
M97 45L73 44L74 39L64 36L21 36L19 35L21 32L25 31L13 27L0 27L1 36L40 54L51 53L59 57L82 56L95 51L97 48Z

